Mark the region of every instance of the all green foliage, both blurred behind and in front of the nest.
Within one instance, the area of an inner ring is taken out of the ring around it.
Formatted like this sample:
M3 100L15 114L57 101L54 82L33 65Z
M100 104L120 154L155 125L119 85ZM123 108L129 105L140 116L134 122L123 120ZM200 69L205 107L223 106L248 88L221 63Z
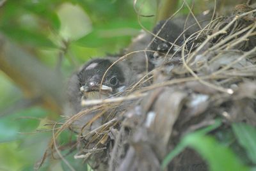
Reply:
M40 63L52 69L60 68L65 78L90 57L118 54L140 33L140 24L152 29L156 20L145 17L138 22L133 2L123 0L22 0L0 1L0 4L1 34L33 54ZM140 5L143 5L139 9L143 15L156 14L156 1L139 2ZM198 6L206 8L205 3ZM188 13L188 9L182 12ZM0 97L0 170L33 170L52 136L47 123L63 117L28 101L13 80L1 71ZM166 156L163 167L182 149L191 147L210 163L211 170L253 170L252 164L256 165L255 128L238 123L217 138L205 136L205 133L184 137L177 149ZM70 138L76 137L68 131L61 134L59 144L67 143ZM234 141L246 151L244 156L227 149ZM74 160L72 154L67 160L77 170L86 168L82 161ZM232 165L234 162L236 165ZM49 160L40 170L68 168L61 160Z

